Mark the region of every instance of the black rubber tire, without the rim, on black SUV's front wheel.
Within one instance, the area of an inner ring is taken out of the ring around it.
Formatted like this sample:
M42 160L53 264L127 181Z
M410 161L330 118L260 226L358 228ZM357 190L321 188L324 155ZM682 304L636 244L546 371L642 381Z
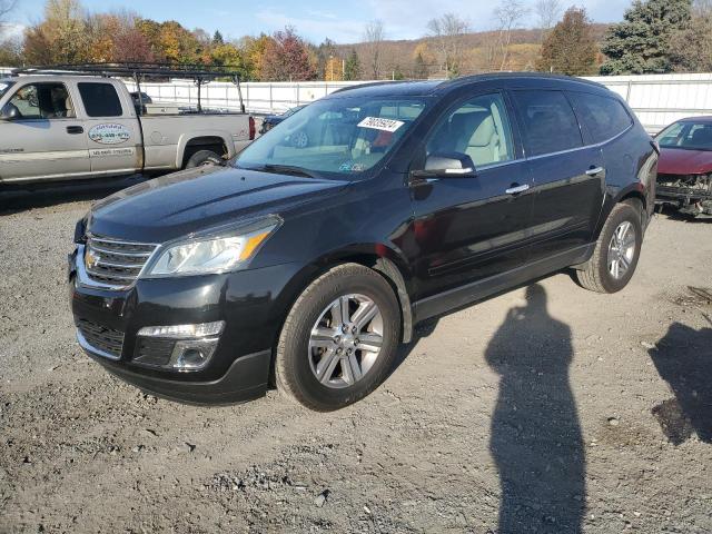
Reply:
M309 337L322 312L344 295L370 298L383 317L383 345L373 367L355 384L330 388L319 383L309 363ZM275 362L278 390L308 408L332 412L370 394L389 373L400 343L400 308L388 281L373 269L343 264L314 280L291 307L279 336Z

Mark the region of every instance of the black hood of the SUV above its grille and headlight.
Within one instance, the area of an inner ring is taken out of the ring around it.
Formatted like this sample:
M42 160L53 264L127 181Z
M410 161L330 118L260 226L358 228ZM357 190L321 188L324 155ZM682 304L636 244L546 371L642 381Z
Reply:
M336 195L349 182L201 167L138 184L97 202L88 230L132 241L164 243Z

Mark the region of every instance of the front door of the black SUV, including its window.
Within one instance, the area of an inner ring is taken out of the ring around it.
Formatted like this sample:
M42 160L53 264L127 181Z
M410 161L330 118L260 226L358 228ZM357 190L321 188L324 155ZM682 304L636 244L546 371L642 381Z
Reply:
M502 93L472 97L439 119L426 155L467 155L475 176L412 186L418 298L517 268L525 261L532 196Z

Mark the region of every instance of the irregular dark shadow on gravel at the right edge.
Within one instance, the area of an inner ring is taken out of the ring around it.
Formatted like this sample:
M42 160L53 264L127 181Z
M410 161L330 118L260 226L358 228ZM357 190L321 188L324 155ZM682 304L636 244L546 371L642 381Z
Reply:
M681 445L696 434L712 444L712 328L674 323L649 354L674 393L652 409L668 439Z

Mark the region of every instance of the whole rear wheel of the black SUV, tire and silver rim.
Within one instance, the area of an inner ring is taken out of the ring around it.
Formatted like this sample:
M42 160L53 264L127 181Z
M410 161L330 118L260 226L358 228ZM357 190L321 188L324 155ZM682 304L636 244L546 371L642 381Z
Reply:
M616 293L627 286L635 273L643 243L640 202L622 202L611 211L596 241L593 256L578 284L596 293Z

